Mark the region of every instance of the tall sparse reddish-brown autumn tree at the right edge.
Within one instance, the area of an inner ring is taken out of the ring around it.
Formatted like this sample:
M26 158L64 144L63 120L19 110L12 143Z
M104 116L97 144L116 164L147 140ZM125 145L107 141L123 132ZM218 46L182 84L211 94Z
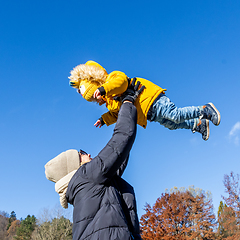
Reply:
M224 175L225 201L224 207L220 209L218 216L219 239L240 239L240 188L239 175L233 172Z

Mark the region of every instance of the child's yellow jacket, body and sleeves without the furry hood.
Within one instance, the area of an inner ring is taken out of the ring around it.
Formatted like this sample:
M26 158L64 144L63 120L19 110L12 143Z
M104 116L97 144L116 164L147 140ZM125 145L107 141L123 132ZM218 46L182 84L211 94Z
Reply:
M160 93L164 93L166 89L155 85L154 83L143 79L137 78L137 81L141 82L141 85L145 86L143 92L136 99L135 106L137 108L138 119L137 123L146 128L147 126L147 113L154 100ZM136 82L137 82L136 81ZM103 121L107 126L117 121L118 112L120 110L121 103L113 100L114 96L121 95L127 90L128 78L125 73L120 71L111 72L106 79L106 82L102 85L106 92L104 99L106 100L106 107L109 112L102 115Z

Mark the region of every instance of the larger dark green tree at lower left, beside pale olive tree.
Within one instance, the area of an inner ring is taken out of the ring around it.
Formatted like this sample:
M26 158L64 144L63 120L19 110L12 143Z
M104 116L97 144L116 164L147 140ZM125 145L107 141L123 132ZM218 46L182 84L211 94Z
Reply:
M30 240L32 232L36 227L36 217L28 215L24 220L21 221L19 228L17 229L17 240Z

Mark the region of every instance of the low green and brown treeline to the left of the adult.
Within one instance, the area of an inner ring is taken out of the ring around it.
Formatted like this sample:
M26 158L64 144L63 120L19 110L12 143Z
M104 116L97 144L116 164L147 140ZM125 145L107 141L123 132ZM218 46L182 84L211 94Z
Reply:
M49 210L44 210L42 218L28 215L18 220L14 211L9 215L0 212L1 240L70 240L72 239L72 222L58 214L49 216Z

